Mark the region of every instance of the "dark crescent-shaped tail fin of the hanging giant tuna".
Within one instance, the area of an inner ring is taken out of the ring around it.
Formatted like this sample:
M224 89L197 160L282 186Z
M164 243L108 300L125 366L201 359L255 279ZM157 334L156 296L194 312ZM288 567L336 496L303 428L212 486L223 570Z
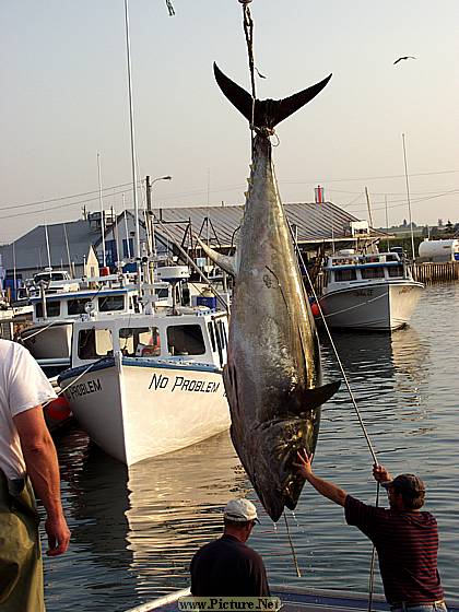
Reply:
M214 62L213 72L220 89L228 101L244 115L244 117L251 123L252 119L252 97L240 87L237 83L228 79ZM316 83L302 92L285 97L284 99L256 99L255 101L255 128L269 128L283 121L298 110L302 106L310 102L318 93L320 93L327 83L330 81L329 74L320 83Z

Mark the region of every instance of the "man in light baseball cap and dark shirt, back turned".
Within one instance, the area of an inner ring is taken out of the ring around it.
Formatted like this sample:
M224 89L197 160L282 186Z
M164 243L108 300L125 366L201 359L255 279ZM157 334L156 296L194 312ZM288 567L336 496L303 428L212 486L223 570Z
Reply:
M257 508L248 499L231 499L223 510L224 532L191 560L191 595L196 597L269 596L262 558L246 542Z

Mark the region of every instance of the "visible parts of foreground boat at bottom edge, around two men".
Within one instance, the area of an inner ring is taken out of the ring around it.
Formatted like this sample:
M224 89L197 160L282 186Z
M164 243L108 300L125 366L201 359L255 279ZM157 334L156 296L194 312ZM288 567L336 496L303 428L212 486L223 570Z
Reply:
M127 610L127 612L153 612L164 610L169 612L178 611L177 600L180 597L189 596L189 589L184 589L175 593L155 599L149 603ZM279 597L282 601L282 612L352 612L368 610L368 595L326 590L326 589L289 589L286 587L274 587L272 596ZM459 612L459 601L447 601L448 612ZM215 608L217 610L217 608ZM380 595L373 597L373 611L390 610L386 600Z

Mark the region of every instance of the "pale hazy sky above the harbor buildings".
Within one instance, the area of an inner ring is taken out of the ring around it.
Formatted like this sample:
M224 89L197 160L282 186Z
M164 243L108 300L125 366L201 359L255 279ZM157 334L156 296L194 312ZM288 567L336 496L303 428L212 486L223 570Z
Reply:
M238 0L129 0L136 154L154 207L244 203L247 121L212 63L249 90ZM327 87L278 126L284 202L374 226L459 221L459 2L252 0L257 96ZM132 207L123 0L0 0L0 243ZM393 64L400 56L414 56ZM101 184L98 180L98 164ZM140 204L142 205L142 203Z

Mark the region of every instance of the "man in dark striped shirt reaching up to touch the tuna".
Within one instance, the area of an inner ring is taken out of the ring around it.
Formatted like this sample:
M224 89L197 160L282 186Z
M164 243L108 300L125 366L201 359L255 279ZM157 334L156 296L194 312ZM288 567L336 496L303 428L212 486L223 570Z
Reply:
M446 611L437 569L438 529L435 518L421 511L425 486L413 474L392 479L384 466L373 475L386 490L389 509L368 506L313 472L313 456L298 452L296 466L318 493L344 507L348 525L357 527L375 544L385 596L392 611Z

